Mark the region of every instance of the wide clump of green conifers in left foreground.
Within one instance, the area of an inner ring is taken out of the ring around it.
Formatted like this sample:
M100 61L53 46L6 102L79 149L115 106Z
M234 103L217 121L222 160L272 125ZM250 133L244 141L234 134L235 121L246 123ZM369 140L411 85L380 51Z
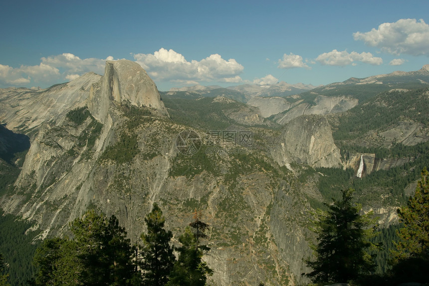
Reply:
M37 249L36 285L131 285L130 240L115 216L92 209L70 228L74 239L47 239Z

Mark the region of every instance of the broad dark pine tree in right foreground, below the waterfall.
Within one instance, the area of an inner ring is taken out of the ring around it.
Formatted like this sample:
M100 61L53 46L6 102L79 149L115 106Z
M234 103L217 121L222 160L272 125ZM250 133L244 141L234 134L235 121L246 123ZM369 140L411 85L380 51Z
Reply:
M374 246L372 214L360 215L361 206L353 205L353 189L342 191L327 212L320 211L315 222L317 245L313 246L316 261L307 261L313 271L306 276L315 283L345 283L369 274L374 267L367 250Z

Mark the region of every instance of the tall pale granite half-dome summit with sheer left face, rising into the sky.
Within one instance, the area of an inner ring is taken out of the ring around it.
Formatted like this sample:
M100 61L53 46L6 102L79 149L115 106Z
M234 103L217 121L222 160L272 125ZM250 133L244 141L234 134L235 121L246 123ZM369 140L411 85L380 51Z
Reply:
M106 61L103 77L91 86L88 108L97 120L105 122L111 101L146 106L168 116L155 82L130 60Z

